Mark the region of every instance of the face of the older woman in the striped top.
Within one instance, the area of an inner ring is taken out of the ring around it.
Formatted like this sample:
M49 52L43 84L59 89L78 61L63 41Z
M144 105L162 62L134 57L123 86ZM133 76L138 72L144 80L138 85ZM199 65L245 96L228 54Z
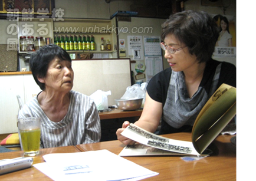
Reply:
M74 71L70 61L63 61L55 57L49 64L47 75L38 78L41 83L45 83L47 91L69 92L73 88Z

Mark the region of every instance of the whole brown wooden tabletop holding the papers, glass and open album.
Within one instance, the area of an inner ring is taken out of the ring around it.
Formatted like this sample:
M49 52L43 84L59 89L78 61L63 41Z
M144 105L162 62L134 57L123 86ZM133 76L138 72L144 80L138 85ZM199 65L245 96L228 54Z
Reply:
M190 141L191 133L166 134L171 139ZM237 180L237 146L231 143L232 136L219 136L214 144L218 155L206 157L195 162L185 162L179 156L125 157L140 166L146 167L158 176L145 180ZM41 149L40 155L34 158L35 163L44 162L42 156L49 153L74 153L90 150L107 149L119 154L124 145L120 141L105 141L93 144L81 144L67 147ZM12 159L22 156L22 152L0 153L0 159ZM1 175L0 180L51 180L35 167ZM86 180L86 178L85 178Z

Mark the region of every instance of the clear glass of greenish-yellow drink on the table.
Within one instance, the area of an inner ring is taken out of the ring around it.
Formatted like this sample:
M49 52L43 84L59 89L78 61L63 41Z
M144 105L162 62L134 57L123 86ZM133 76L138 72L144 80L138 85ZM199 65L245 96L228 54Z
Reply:
M19 139L24 156L37 156L40 149L40 117L18 119Z

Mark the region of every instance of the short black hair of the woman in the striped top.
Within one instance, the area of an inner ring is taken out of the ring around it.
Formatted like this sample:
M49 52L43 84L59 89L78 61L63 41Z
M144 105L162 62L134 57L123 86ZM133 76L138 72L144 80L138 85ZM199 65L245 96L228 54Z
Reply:
M72 61L67 51L54 44L44 45L30 57L29 66L34 80L41 90L45 89L45 84L38 81L38 77L44 78L46 76L49 64L55 57L60 58L60 60Z

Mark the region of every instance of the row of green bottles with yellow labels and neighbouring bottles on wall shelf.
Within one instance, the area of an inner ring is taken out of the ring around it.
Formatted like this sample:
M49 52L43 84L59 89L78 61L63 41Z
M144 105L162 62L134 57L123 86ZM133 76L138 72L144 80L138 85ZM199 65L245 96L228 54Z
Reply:
M54 44L60 46L66 51L76 51L76 50L96 50L96 43L94 40L94 36L91 35L55 35L54 36ZM107 41L107 45L104 45L104 38L101 38L100 50L111 50L111 44L109 40Z

